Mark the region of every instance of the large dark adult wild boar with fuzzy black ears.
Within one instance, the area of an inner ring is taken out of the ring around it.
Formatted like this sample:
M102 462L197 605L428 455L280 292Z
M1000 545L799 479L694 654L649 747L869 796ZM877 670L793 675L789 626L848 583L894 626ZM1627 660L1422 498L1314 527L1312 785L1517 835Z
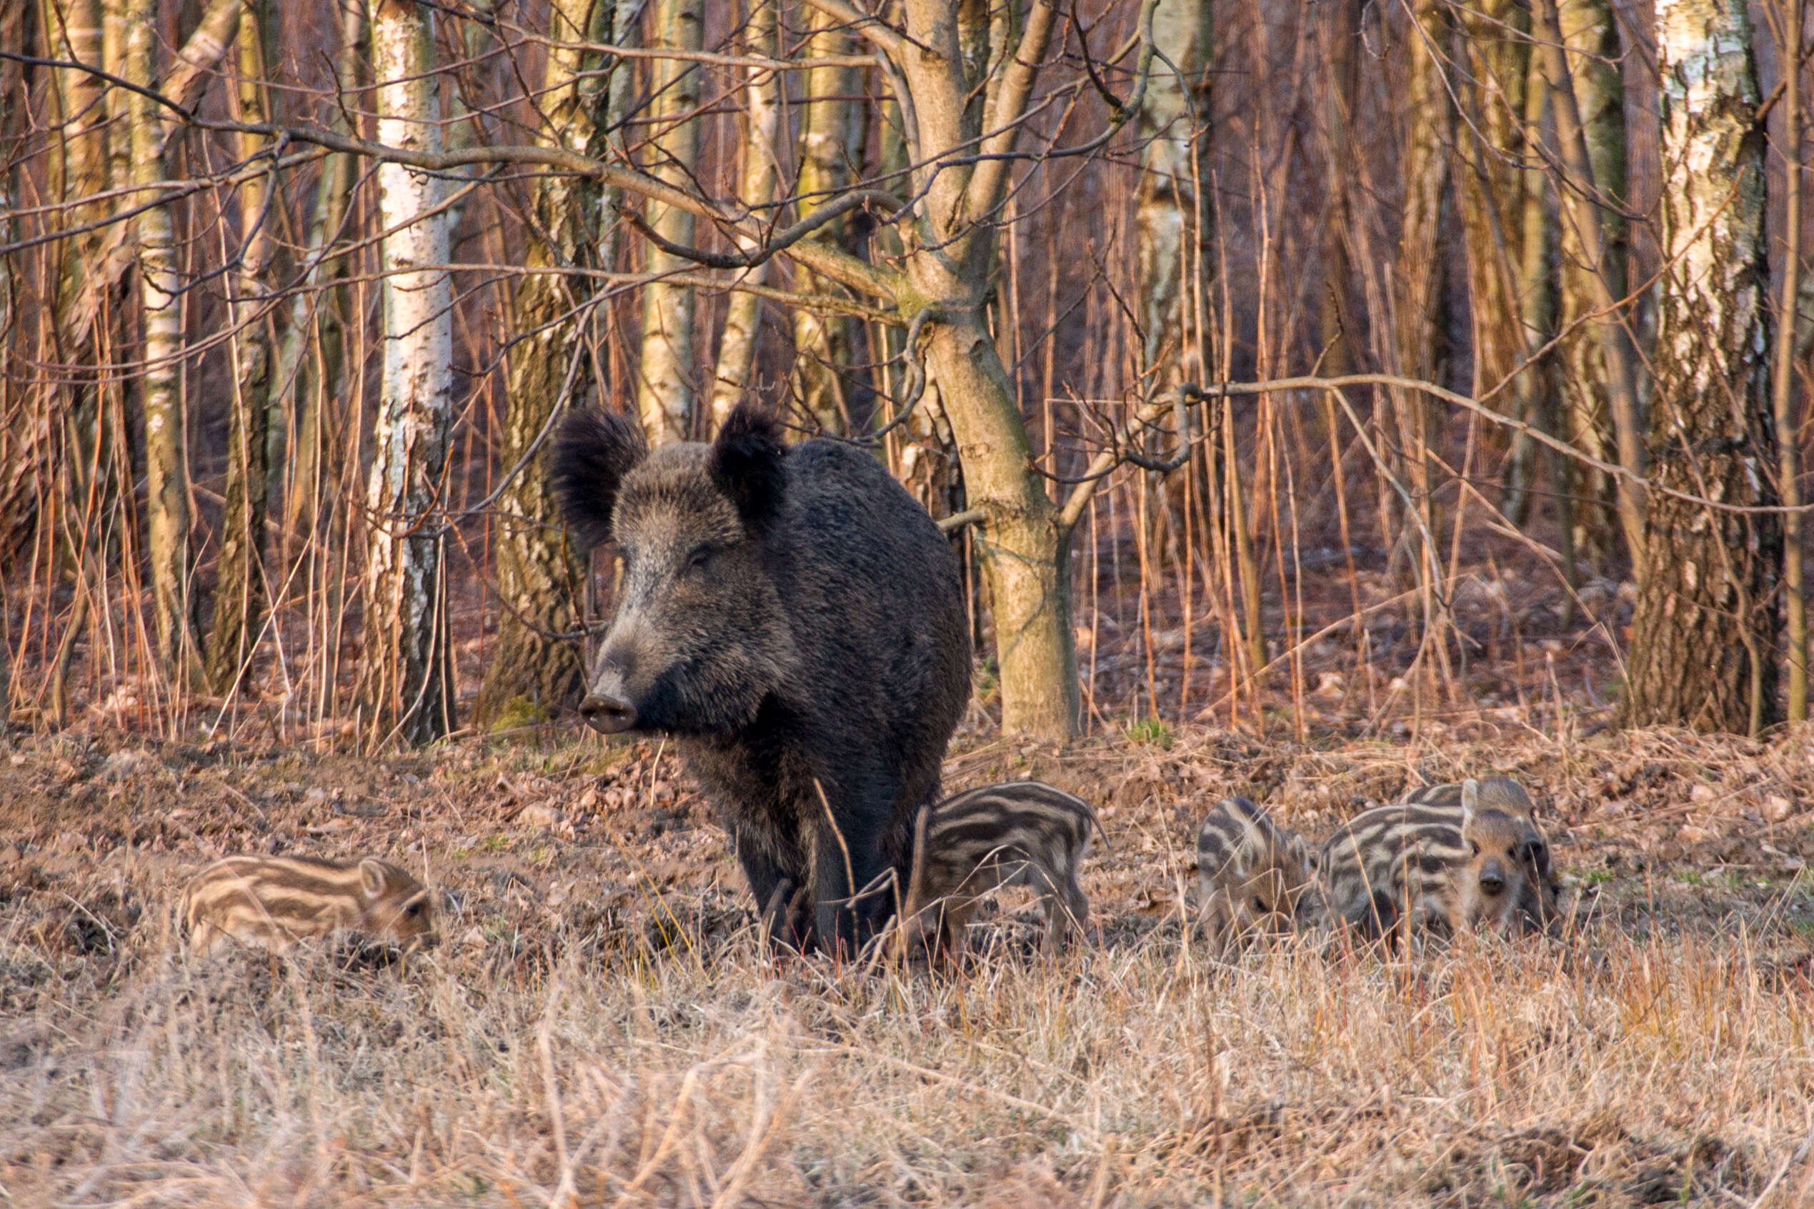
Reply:
M856 891L905 886L970 693L951 545L874 457L787 448L749 405L655 452L633 419L570 412L553 474L579 539L624 559L580 713L673 735L771 922L804 888L791 940L853 949L894 908Z

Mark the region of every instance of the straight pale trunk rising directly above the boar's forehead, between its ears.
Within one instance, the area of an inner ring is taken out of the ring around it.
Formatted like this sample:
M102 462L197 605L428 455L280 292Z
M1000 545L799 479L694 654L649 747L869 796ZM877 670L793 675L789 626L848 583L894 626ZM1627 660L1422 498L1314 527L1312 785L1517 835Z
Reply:
M653 0L655 45L678 51L700 49L706 36L704 0ZM657 178L686 187L698 158L698 64L653 60L651 129L657 131L649 163ZM649 227L669 243L693 243L693 214L649 202ZM649 245L649 272L689 269L689 261ZM684 441L693 430L693 289L653 281L642 287L642 365L637 410L649 445Z

